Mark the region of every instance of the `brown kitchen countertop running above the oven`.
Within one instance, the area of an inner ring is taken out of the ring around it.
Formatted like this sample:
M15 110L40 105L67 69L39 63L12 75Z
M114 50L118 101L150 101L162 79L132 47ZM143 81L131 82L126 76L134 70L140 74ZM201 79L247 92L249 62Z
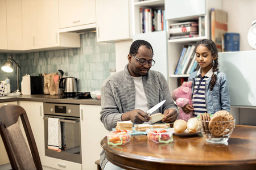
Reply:
M87 104L101 105L100 100L96 99L62 99L62 95L19 95L19 96L2 96L0 103L9 101L39 101L45 103L65 103L65 104Z

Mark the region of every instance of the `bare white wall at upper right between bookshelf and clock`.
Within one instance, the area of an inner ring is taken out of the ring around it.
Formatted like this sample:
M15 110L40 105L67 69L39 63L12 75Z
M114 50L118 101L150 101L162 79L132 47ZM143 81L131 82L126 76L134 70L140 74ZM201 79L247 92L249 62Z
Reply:
M222 9L228 12L228 32L240 33L240 51L253 50L247 42L247 33L256 19L255 7L255 0L222 1Z

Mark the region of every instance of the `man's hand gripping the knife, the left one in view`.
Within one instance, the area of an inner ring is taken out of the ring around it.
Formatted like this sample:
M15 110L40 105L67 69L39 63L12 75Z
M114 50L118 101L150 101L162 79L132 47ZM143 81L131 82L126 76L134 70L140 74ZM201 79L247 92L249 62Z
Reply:
M131 120L134 124L143 124L150 121L151 117L140 109L135 109L122 114L122 121Z

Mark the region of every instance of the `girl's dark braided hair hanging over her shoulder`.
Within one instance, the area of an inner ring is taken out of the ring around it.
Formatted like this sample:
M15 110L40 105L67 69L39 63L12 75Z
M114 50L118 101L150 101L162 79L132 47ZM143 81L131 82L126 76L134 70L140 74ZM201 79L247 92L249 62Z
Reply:
M207 47L210 52L212 53L212 56L216 56L216 59L213 60L213 74L212 74L212 79L210 80L210 91L213 90L213 86L216 82L217 79L217 71L218 71L218 51L217 51L217 46L216 44L212 41L212 40L208 40L208 39L203 39L200 41L197 41L195 46L197 48L197 46L199 45L204 45L205 47Z

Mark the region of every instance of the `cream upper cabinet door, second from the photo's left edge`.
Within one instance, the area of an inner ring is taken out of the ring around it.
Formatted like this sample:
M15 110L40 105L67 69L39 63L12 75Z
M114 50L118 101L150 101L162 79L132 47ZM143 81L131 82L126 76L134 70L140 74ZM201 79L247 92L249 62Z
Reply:
M6 1L7 44L9 50L22 50L22 1Z

